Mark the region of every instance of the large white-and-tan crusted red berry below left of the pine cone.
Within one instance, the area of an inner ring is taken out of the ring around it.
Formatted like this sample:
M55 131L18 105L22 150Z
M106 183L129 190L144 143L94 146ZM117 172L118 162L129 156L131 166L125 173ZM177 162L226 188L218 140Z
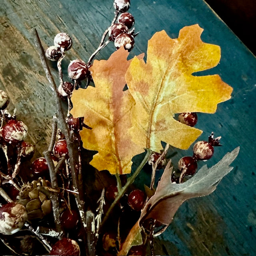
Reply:
M0 208L0 233L12 235L18 232L28 219L26 208L22 204L10 202Z

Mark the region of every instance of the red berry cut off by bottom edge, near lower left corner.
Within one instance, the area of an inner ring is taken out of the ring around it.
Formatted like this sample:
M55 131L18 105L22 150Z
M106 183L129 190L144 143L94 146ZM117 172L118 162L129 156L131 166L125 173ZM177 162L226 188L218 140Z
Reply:
M70 238L62 238L52 246L50 255L78 256L80 255L80 247L75 240Z

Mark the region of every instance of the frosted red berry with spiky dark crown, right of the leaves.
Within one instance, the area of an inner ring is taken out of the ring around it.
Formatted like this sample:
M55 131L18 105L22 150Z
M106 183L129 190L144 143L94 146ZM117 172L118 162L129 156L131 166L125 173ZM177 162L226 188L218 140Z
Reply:
M197 160L208 160L212 157L214 148L207 141L198 141L194 144L193 152Z

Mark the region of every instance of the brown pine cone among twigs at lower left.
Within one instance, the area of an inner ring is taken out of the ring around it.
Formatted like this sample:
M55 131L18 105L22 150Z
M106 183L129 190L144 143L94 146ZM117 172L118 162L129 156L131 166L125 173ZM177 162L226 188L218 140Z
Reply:
M50 182L39 178L38 180L33 180L31 183L24 184L16 198L19 204L26 207L28 220L42 219L52 212L51 200L37 189L38 186L48 189Z

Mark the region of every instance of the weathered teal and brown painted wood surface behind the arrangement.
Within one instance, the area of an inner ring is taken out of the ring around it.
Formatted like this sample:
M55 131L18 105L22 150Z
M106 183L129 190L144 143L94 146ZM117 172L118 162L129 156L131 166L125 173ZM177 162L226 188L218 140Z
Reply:
M147 40L159 30L178 36L183 26L198 23L205 42L222 49L220 64L206 74L218 73L234 88L233 98L220 104L216 114L200 114L197 127L202 139L212 131L222 136L208 166L227 151L240 146L234 170L207 197L190 200L178 210L168 230L157 238L156 254L166 255L254 255L256 254L255 57L228 27L201 0L131 1L136 19L136 46L132 54L146 52ZM0 89L11 98L9 109L17 108L18 118L29 126L29 140L41 156L50 140L54 114L52 90L34 49L31 28L35 27L44 46L53 44L58 32L73 38L73 48L64 60L88 60L97 48L113 17L112 0L2 0L0 4ZM109 44L98 55L108 58ZM52 64L55 78L56 65ZM67 74L64 72L67 78ZM191 149L188 150L191 153ZM173 159L177 162L179 151ZM145 175L143 178L148 178ZM141 178L139 183L144 183ZM148 181L146 181L148 182Z

